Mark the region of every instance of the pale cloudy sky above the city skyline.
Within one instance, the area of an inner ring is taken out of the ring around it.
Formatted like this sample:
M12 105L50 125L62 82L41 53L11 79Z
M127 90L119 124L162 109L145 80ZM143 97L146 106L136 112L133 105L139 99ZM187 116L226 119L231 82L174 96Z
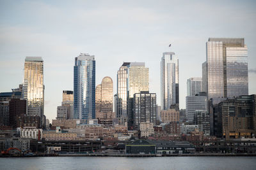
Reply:
M79 53L95 55L96 85L123 62L145 62L160 102L163 52L179 58L180 108L186 82L202 76L208 38L244 38L249 94L256 94L256 1L0 0L0 92L19 87L26 56L44 59L45 115L56 118L62 90L73 90ZM168 47L172 43L171 47Z

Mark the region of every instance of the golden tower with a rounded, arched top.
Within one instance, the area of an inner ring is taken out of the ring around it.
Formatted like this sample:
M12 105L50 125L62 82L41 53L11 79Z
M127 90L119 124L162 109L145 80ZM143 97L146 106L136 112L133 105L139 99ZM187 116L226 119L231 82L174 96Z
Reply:
M95 90L96 118L110 118L113 115L113 80L106 76ZM115 115L111 118L115 118Z

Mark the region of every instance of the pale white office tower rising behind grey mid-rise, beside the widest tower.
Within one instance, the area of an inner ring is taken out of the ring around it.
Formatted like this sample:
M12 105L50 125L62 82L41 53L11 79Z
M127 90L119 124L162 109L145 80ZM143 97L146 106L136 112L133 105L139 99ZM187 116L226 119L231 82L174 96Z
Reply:
M202 77L191 77L187 80L187 96L195 96L202 90Z

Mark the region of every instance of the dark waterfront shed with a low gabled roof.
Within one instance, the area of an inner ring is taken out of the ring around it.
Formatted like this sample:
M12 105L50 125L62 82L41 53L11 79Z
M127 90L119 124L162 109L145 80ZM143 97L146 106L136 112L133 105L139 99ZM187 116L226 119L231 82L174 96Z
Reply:
M125 150L126 153L154 154L156 153L156 145L149 141L140 139L125 145Z

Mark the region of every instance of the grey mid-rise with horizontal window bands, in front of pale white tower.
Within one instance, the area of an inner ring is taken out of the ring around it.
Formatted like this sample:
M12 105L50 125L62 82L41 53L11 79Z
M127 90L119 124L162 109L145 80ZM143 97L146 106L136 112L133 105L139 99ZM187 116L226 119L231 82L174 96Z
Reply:
M207 110L207 96L205 92L200 92L196 96L186 97L186 119L193 122L196 110Z

